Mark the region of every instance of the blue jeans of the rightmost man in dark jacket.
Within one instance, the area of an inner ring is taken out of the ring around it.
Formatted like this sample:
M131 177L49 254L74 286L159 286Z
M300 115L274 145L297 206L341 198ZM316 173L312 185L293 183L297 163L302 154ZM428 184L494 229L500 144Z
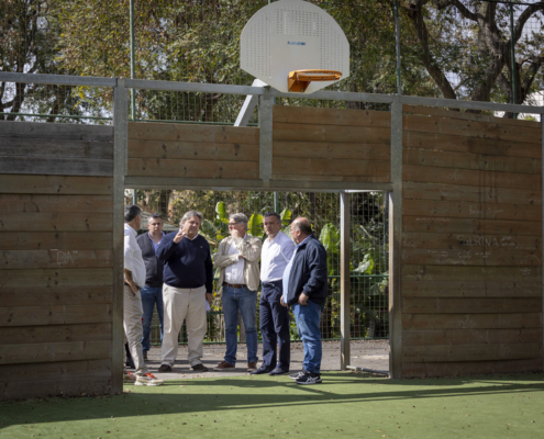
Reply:
M300 339L304 347L304 362L302 367L306 371L320 373L321 370L321 331L319 322L323 306L318 305L311 300L308 305L302 306L298 303L292 305L292 314L297 322Z

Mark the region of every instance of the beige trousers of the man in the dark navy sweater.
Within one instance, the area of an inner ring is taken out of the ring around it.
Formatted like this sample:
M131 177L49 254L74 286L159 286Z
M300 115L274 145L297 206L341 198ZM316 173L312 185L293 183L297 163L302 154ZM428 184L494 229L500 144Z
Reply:
M163 364L174 367L178 354L178 336L186 320L190 365L200 364L202 341L206 335L206 286L178 289L163 286L165 316L163 323Z

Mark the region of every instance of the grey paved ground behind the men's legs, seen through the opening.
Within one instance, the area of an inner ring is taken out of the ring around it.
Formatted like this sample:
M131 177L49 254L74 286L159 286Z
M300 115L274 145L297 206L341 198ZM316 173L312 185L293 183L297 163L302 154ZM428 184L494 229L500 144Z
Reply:
M171 373L158 373L160 367L160 347L152 347L146 361L151 371L162 380L179 380L189 378L212 378L212 376L237 376L247 374L245 344L238 345L236 368L229 372L213 371L213 368L223 361L225 345L204 345L204 357L202 363L208 367L208 372L193 372L187 362L187 346L180 346L178 359ZM258 354L263 352L263 346L259 344ZM304 352L302 342L291 342L291 371L302 369ZM389 370L389 341L388 340L353 340L351 342L351 365L366 368L379 371ZM257 363L260 365L260 361ZM340 341L323 342L323 361L321 364L323 371L340 370Z

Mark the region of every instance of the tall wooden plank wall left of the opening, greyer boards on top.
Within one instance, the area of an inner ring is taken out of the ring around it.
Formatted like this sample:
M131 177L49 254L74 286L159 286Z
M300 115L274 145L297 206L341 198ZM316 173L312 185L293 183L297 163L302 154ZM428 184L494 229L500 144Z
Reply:
M111 392L112 140L0 124L0 398Z

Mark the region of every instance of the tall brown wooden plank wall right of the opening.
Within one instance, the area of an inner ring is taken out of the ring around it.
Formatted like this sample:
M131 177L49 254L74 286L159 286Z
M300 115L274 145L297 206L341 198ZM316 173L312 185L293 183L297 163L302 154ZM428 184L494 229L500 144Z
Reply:
M540 123L404 112L402 375L542 370Z

